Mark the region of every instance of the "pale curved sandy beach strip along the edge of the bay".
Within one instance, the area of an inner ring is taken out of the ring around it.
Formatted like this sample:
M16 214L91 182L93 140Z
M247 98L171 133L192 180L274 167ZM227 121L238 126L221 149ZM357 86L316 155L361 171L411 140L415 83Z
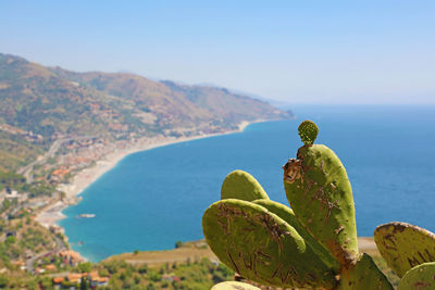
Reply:
M50 204L42 209L36 216L35 220L41 224L46 228L57 227L62 232L64 229L59 226L59 222L66 216L62 213L63 210L69 207L70 205L74 205L79 202L79 194L89 187L92 182L95 182L98 178L100 178L103 174L111 171L116 164L123 160L125 156L159 148L164 146L170 146L179 142L192 141L197 139L203 139L209 137L241 133L251 124L266 122L265 119L257 119L252 122L244 121L238 124L238 128L236 130L228 130L225 133L217 133L217 134L202 134L191 137L164 137L158 136L153 138L141 138L138 139L135 144L130 148L126 149L119 149L114 152L105 155L103 159L98 160L96 165L92 167L85 168L78 172L73 178L70 184L61 184L59 185L58 189L60 191L65 192L65 198L62 201L58 201L53 204ZM67 238L67 237L66 237Z

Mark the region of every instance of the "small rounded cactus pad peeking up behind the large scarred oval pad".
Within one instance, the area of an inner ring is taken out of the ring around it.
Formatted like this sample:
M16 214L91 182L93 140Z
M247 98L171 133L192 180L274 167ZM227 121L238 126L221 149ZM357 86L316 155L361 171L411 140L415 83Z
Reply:
M222 185L221 199L253 201L269 200L269 197L252 175L244 171L234 171L226 176Z

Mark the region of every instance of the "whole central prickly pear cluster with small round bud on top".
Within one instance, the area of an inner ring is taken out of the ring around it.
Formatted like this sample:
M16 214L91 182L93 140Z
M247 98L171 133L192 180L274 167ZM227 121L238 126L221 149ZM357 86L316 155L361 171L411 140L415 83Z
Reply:
M369 255L358 254L353 197L346 169L310 121L304 143L284 166L291 205L269 200L249 174L231 173L202 228L217 257L262 285L303 289L393 289ZM365 279L368 278L368 279Z

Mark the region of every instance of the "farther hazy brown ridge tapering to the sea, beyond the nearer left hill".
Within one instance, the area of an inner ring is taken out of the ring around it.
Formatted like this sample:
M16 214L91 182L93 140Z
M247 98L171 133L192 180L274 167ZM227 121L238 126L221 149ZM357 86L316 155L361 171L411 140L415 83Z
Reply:
M210 125L231 128L241 121L287 116L263 101L223 88L154 81L121 73L80 74L59 67L52 68L52 72L80 87L133 102L140 110L137 112L140 122L160 129Z

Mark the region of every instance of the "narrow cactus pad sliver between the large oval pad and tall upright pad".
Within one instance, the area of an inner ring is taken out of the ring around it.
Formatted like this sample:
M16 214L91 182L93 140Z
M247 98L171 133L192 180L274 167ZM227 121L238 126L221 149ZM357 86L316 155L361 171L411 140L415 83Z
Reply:
M320 242L318 242L308 230L303 227L302 224L296 218L293 210L282 203L271 201L271 200L256 200L253 203L259 204L265 207L268 211L276 214L288 225L294 227L296 231L302 237L307 244L310 244L313 251L319 255L319 257L332 270L338 273L339 263L337 260L331 255L331 253L324 248Z

